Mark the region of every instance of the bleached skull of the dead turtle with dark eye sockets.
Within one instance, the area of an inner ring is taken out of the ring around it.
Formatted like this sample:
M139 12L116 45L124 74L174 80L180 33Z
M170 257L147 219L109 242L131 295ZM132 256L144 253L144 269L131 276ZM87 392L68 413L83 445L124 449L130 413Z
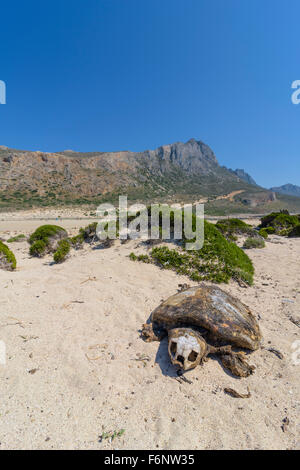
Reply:
M193 369L200 364L207 351L202 336L191 328L174 328L169 331L169 356L181 369Z

